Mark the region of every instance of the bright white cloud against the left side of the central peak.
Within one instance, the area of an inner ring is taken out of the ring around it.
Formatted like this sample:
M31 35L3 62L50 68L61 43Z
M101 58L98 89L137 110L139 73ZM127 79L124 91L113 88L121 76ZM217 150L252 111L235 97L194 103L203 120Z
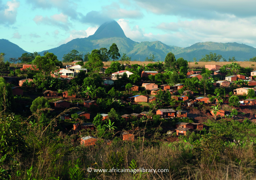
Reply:
M76 38L87 38L88 36L94 34L94 32L99 28L99 26L96 27L88 27L86 30L72 30L70 31L70 35L65 40L61 40L58 45L66 44L67 42L76 39Z

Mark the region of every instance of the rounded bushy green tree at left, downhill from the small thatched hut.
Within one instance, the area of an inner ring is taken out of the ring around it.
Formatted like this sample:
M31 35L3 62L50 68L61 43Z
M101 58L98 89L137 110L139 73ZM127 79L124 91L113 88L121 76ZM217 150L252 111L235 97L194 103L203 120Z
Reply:
M44 97L37 97L33 102L32 105L30 106L30 111L32 113L40 114L42 112L44 113L49 113L50 110L50 104L47 99Z

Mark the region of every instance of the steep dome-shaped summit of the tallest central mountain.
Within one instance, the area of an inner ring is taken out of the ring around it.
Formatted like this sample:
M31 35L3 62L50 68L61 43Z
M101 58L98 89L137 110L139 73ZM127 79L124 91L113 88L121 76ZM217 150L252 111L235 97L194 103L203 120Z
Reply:
M91 36L91 38L103 39L103 38L127 38L123 29L116 21L105 22L97 29L97 31Z

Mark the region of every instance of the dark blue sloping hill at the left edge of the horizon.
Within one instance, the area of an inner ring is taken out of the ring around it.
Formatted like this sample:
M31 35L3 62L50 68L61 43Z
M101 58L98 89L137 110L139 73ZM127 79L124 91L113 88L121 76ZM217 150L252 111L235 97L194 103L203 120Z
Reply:
M23 53L28 52L9 40L0 39L0 53L5 53L6 55L4 56L4 59L9 60L10 58L18 58Z

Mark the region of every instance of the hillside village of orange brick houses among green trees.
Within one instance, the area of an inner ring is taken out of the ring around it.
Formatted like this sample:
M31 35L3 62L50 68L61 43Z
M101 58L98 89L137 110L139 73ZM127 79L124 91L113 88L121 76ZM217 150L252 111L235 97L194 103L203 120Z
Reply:
M77 134L83 129L87 132L87 136L77 136L75 140L85 146L95 145L100 139L110 143L111 136L134 141L147 128L168 135L167 140L173 141L188 132L209 129L204 124L207 119L255 119L250 109L256 104L256 71L240 70L238 74L234 62L228 67L205 65L198 70L186 67L184 73L183 66L175 72L164 71L163 63L143 67L113 61L110 67L101 67L98 74L89 73L82 61L72 63L51 72L53 83L42 92L36 92L33 77L5 79L12 84L13 96L19 97L16 100L23 106L23 113L29 114L30 103L43 97L52 112L61 113L58 126L63 132ZM106 74L110 68L111 74ZM115 68L117 72L113 72ZM23 64L18 71L22 74L40 70L36 65ZM66 89L54 87L61 82ZM30 98L30 103L21 97ZM72 110L65 113L69 108ZM102 131L102 126L105 135L103 132L101 137L94 137L95 131L100 128Z

